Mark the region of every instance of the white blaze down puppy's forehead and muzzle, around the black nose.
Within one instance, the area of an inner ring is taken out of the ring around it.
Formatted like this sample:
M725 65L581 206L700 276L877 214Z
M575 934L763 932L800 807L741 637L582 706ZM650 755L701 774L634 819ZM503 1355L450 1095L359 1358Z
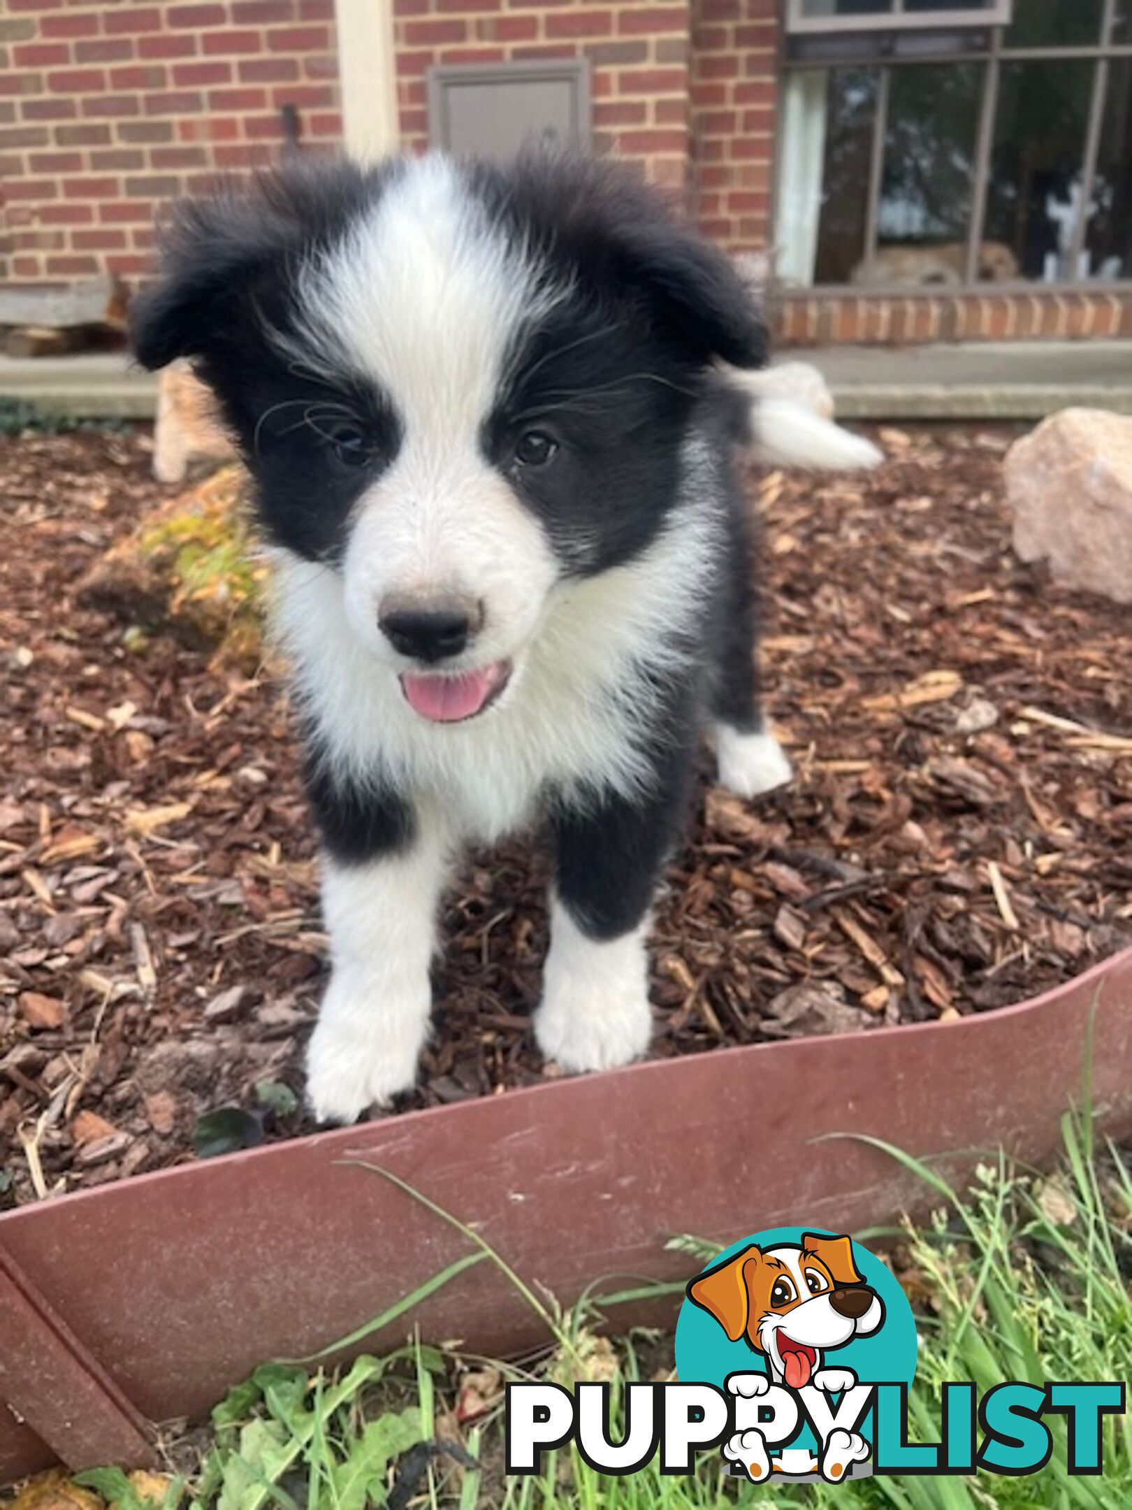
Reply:
M389 664L377 628L386 593L481 602L477 664L510 655L534 627L557 562L481 435L519 332L561 296L442 157L395 178L303 275L306 344L374 381L400 424L392 465L355 506L343 562L353 633Z

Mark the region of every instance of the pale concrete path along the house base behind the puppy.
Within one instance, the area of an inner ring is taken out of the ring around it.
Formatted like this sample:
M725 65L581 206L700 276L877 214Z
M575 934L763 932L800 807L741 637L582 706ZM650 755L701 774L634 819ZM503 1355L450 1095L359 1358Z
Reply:
M1067 405L1132 414L1132 341L832 346L783 352L826 374L842 420L1035 420ZM125 356L0 356L0 399L152 418L157 381Z

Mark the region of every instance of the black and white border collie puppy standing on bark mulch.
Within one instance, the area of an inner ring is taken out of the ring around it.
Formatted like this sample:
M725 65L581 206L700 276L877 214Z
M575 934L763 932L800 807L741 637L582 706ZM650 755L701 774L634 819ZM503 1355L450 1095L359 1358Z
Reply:
M315 1114L412 1087L445 877L516 829L557 856L543 1054L643 1054L700 729L735 791L789 775L718 370L765 334L729 261L610 163L287 168L183 207L133 341L216 393L275 559L331 933Z

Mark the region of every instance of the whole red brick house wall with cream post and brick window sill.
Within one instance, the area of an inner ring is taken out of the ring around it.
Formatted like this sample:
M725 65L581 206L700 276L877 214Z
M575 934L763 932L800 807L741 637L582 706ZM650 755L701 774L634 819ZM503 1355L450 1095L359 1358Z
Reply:
M592 139L729 252L773 242L783 0L3 0L0 281L143 276L161 207L306 149L429 143L435 65L584 59ZM788 344L1132 335L1103 290L788 291Z

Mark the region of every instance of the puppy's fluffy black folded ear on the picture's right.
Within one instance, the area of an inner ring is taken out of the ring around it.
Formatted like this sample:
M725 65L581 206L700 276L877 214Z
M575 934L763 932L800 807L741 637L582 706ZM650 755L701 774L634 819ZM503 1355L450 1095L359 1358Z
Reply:
M622 223L617 258L664 326L705 361L764 367L767 328L731 261L666 220Z

